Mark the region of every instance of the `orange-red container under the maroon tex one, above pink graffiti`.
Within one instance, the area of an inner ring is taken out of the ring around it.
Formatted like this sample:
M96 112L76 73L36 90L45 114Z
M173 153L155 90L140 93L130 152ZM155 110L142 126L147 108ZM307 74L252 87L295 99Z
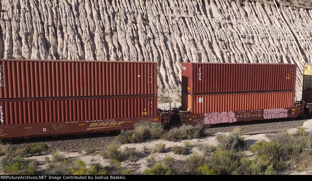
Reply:
M215 113L294 107L294 92L190 95L182 93L184 111Z

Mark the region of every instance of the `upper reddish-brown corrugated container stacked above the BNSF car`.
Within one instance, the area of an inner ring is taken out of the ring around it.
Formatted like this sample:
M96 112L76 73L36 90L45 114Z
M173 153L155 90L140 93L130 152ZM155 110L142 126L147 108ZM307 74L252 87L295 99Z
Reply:
M157 95L157 64L0 59L0 100Z

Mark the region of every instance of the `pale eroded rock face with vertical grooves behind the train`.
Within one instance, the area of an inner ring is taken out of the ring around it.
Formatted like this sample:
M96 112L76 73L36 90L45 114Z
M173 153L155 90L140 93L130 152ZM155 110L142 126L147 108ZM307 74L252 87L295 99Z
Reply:
M0 58L154 61L167 93L182 62L295 63L300 94L312 2L278 6L283 17L262 0L1 0Z

